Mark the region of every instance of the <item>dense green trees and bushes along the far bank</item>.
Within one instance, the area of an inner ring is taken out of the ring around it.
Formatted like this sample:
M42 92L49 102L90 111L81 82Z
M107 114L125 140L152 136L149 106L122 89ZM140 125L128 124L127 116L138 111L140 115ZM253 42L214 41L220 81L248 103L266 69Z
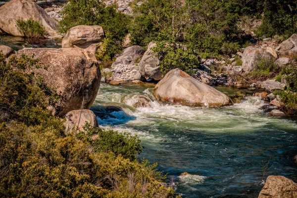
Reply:
M279 35L286 39L296 31L295 0L146 0L132 2L133 14L117 12L97 0L69 0L65 6L61 31L76 25L101 25L106 38L98 58L111 61L122 49L127 33L132 42L158 44L161 68L165 73L178 67L192 71L201 58L230 56L250 42L247 23L262 18L259 36Z

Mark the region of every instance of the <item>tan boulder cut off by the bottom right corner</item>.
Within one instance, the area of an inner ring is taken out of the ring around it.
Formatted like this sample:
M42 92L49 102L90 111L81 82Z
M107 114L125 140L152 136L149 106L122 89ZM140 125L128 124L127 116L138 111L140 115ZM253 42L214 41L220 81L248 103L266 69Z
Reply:
M297 198L297 184L283 176L269 176L258 198Z

